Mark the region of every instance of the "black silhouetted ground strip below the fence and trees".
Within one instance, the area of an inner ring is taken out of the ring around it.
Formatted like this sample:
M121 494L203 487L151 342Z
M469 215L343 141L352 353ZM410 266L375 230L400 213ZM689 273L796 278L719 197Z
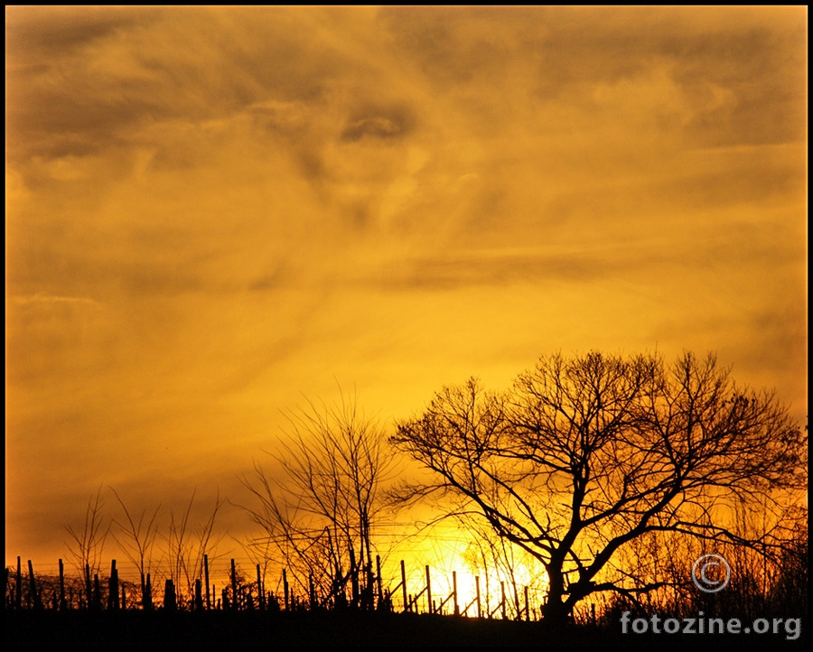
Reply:
M621 626L575 626L552 633L541 623L376 613L59 613L6 611L7 649L192 647L771 647L807 648L779 635L637 635ZM10 647L9 647L10 646Z

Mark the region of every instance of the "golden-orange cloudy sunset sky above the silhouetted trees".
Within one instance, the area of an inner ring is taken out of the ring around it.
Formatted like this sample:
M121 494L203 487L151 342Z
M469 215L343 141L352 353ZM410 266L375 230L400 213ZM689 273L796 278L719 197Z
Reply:
M806 423L807 19L6 7L7 563L100 485L230 497L340 387L714 350Z

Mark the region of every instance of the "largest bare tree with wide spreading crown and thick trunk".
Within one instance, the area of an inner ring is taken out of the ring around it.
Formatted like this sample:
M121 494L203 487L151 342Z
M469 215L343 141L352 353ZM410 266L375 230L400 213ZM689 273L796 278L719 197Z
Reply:
M619 564L652 533L768 551L771 517L746 535L732 508L778 513L780 492L806 483L799 425L713 355L543 357L504 394L445 387L391 441L435 471L402 498L450 498L450 513L485 519L543 564L555 625L596 592L662 586Z

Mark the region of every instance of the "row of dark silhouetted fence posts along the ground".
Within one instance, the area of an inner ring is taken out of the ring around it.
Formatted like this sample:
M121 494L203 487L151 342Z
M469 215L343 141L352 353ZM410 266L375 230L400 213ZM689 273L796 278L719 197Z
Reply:
M509 619L505 582L500 582L500 602L493 610L483 610L481 576L474 576L475 594L461 609L459 601L457 572L452 573L451 592L443 597L433 596L433 577L429 565L425 565L424 579L409 591L406 564L400 560L400 582L395 586L385 583L381 573L381 559L376 555L376 572L371 564L361 566L350 555L349 573L333 578L330 591L320 595L310 574L307 582L296 581L289 569L282 569L282 594L266 589L266 582L260 564L256 564L256 580L245 582L234 559L230 560L229 580L220 589L210 583L209 555L203 555L202 577L194 580L192 589L176 586L172 578L164 580L164 595L156 600L151 573L142 574L140 582L126 582L119 578L117 561L111 560L110 573L100 578L92 573L89 564L85 566L84 577L65 574L64 564L59 560L59 576L42 575L34 572L32 560L28 560L27 577L23 578L21 557L17 557L16 569L5 568L5 609L6 610L262 610L262 611L304 611L304 610L379 610L403 611L454 615L465 618ZM291 582L292 578L294 582ZM301 579L301 578L299 578ZM306 587L306 593L294 591L294 585ZM519 598L515 605L514 619L532 619L528 605L528 586L523 587L525 604L520 609ZM516 588L515 588L516 593ZM394 600L400 597L400 604ZM490 604L488 591L486 604ZM524 617L524 618L523 618Z

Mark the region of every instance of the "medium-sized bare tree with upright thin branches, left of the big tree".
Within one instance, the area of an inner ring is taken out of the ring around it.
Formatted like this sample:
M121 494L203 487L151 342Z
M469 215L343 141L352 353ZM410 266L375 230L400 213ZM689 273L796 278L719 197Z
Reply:
M393 467L387 437L343 396L337 407L308 402L287 416L282 452L272 455L281 474L256 463L242 479L256 499L248 515L265 531L251 543L275 549L309 599L340 605L350 588L351 602L371 607L375 526Z

